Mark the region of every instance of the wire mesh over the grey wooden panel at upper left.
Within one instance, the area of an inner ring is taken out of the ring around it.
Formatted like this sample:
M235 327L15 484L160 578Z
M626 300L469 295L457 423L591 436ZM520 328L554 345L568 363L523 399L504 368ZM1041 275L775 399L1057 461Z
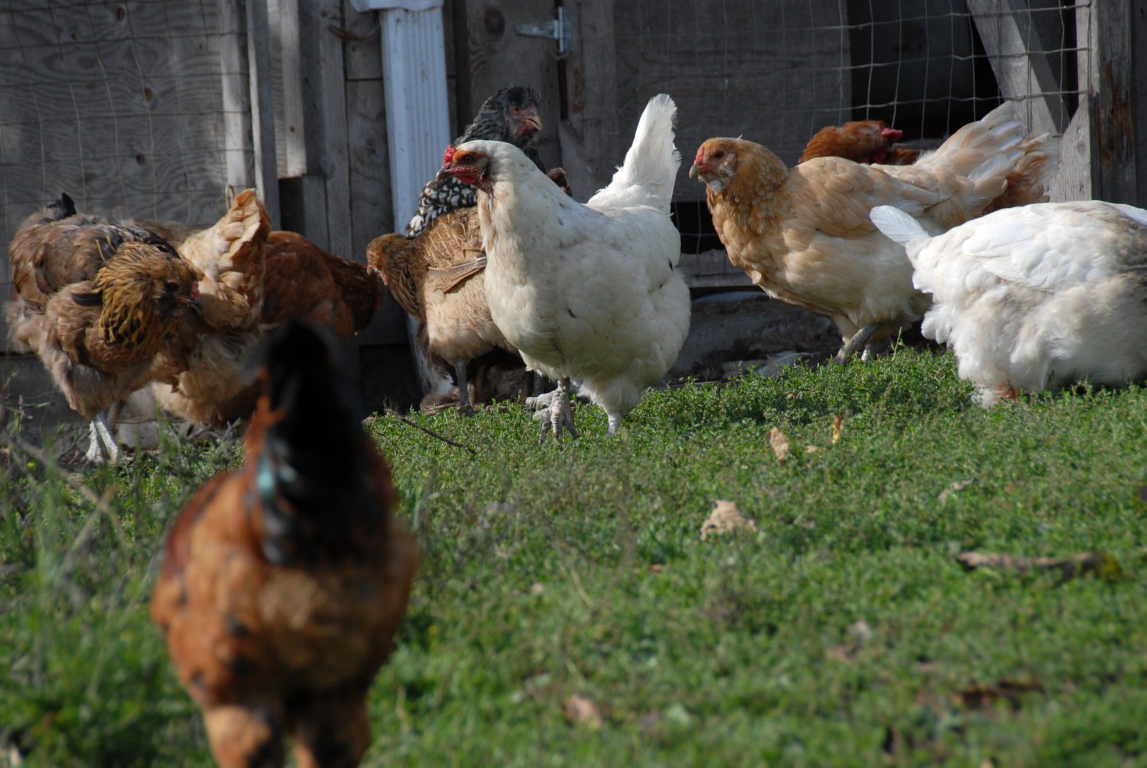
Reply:
M226 210L219 52L236 32L218 5L0 6L5 252L23 219L61 193L81 212L104 215L198 222ZM2 262L0 297L7 297Z

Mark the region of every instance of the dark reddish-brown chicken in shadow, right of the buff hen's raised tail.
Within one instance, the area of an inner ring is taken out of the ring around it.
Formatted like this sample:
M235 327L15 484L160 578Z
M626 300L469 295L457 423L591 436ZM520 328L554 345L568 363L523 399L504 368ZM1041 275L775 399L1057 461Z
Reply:
M349 339L370 324L382 283L365 264L327 253L294 232L267 236L264 328L310 320Z

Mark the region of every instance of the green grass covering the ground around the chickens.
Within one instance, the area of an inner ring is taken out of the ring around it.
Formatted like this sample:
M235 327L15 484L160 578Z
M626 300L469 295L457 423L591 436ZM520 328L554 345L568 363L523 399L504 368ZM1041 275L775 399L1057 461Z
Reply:
M423 566L365 765L1147 765L1147 391L969 392L908 351L649 392L611 441L591 407L559 446L516 407L416 417L477 456L374 420ZM8 457L0 735L25 765L211 765L146 603L164 526L237 460L177 444L85 471L117 533ZM757 530L702 542L717 499ZM1118 567L968 572L969 549Z

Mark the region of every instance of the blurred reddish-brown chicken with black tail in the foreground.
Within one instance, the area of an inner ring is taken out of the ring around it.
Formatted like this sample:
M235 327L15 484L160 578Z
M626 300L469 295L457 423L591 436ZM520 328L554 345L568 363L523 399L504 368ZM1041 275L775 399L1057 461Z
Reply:
M366 696L393 646L418 553L387 462L359 424L334 337L274 331L247 463L171 527L151 619L223 768L357 766Z

